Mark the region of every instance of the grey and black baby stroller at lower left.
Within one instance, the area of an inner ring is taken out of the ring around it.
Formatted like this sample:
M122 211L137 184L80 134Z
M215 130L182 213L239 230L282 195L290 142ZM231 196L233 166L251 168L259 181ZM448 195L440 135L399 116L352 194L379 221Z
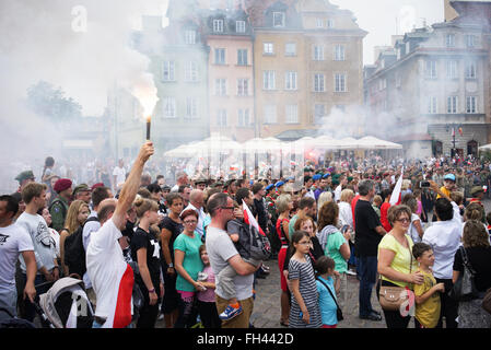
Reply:
M92 328L94 311L80 279L59 279L34 305L44 328Z

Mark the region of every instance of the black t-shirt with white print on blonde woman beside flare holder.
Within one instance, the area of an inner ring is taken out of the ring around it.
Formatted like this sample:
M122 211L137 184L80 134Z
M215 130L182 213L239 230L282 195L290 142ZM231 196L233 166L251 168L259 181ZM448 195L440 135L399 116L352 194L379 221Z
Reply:
M150 272L150 279L152 280L155 292L160 295L160 281L161 281L161 245L156 237L156 234L150 230L144 231L141 228L137 228L131 238L131 258L138 262L137 252L141 248L147 249L147 266ZM144 294L148 293L147 287L141 278L140 273L136 273L136 282L140 285Z

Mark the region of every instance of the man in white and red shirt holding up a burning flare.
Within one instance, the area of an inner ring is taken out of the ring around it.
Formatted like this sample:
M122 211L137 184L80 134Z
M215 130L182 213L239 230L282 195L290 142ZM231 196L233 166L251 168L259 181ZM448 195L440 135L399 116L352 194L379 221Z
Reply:
M119 199L108 198L100 205L101 229L91 234L86 249L87 275L97 300L94 328L125 328L131 324L135 277L122 256L121 241L126 237L121 230L126 228L128 210L137 197L143 166L153 152L153 143L147 141L122 185Z

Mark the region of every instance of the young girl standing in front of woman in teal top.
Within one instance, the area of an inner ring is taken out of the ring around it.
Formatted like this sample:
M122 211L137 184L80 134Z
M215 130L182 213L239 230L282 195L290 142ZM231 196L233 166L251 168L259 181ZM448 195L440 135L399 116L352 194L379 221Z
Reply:
M198 275L198 281L204 285L207 290L198 292L198 311L201 317L201 323L204 328L220 328L221 320L217 312L215 295L214 295L214 273L210 266L210 258L208 257L206 245L199 247L199 256L203 261L203 270Z

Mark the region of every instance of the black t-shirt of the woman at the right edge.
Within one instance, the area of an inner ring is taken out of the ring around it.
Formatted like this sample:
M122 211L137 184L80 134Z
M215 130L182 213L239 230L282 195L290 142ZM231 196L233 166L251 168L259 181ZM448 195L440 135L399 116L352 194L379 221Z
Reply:
M467 259L474 271L476 271L476 288L486 292L491 288L491 247L466 248ZM464 273L464 261L460 249L455 253L454 271Z

